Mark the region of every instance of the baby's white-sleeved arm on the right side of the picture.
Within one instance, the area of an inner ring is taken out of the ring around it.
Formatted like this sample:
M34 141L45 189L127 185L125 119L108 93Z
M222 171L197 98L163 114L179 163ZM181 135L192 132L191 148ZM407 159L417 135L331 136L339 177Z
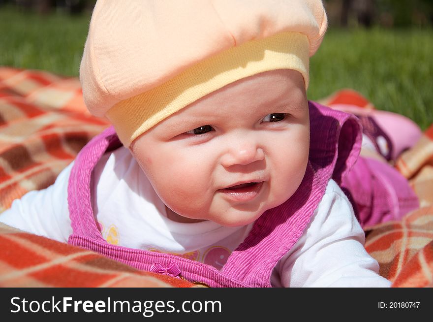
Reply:
M340 187L331 181L311 222L279 261L279 287L389 287L364 248L365 234Z

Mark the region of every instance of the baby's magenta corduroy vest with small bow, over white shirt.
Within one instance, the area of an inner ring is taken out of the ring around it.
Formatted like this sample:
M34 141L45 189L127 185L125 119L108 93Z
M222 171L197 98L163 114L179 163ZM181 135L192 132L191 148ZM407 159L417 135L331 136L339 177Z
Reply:
M340 184L361 148L356 117L314 102L309 102L309 111L309 164L301 186L286 202L256 220L220 271L187 258L111 245L102 238L92 210L91 177L101 156L121 146L112 127L95 136L77 155L72 167L68 204L73 233L68 242L140 270L177 270L173 275L180 273L188 281L211 287L271 287L274 267L301 237L329 180L333 178Z

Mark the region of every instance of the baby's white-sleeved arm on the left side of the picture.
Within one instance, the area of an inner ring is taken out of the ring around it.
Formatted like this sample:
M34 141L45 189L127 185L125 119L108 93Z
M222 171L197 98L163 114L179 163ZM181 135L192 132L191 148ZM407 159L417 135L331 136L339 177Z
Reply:
M68 165L47 189L31 191L12 202L0 214L0 222L12 227L66 242L72 233L67 204Z

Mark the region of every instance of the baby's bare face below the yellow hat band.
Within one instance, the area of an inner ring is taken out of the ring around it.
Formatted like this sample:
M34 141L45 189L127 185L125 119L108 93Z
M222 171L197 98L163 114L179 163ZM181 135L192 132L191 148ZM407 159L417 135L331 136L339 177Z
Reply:
M160 122L130 150L169 218L249 224L287 200L304 177L303 78L274 70L239 80Z

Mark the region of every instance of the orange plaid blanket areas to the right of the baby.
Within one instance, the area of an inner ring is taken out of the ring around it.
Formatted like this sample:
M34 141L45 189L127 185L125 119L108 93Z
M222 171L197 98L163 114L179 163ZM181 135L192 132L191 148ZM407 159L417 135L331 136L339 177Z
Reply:
M350 89L326 97L321 103L375 108ZM420 208L401 221L365 227L365 247L378 261L380 275L392 281L393 287L433 287L433 124L400 155L395 167L409 180Z

